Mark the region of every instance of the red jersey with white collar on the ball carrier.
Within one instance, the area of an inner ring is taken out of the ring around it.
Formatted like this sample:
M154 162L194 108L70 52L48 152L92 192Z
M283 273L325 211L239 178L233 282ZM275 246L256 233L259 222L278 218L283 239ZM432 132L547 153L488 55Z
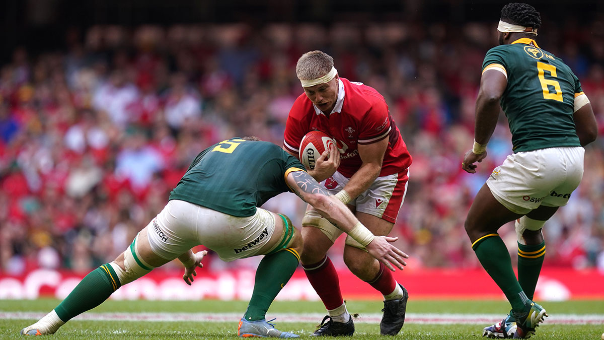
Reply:
M338 171L352 177L361 167L358 144L370 144L388 138L380 176L396 174L411 165L411 155L400 137L384 97L363 83L339 78L338 100L334 112L322 113L301 94L289 111L283 146L299 154L302 137L310 131L326 132L336 140L341 162Z

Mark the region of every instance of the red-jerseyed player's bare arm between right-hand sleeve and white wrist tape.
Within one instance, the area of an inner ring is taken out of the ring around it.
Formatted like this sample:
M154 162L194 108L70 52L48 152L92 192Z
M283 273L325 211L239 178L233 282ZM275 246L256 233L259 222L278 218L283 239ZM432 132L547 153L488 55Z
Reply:
M382 162L384 154L388 148L388 137L376 143L359 144L359 156L363 163L361 168L355 172L344 187L350 198L355 198L361 195L362 192L369 189L371 183L376 180L379 172L382 170Z

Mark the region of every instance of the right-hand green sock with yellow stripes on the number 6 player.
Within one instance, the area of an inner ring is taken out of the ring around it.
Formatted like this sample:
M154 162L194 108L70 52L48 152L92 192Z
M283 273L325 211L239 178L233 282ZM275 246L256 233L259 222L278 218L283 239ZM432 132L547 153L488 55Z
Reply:
M518 243L518 282L529 299L535 295L544 258L545 241L535 246Z

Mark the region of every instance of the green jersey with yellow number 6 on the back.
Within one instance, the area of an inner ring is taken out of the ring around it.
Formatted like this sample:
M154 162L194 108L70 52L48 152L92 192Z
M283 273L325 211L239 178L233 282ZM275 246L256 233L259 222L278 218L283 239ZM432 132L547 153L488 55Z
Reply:
M528 38L491 48L483 62L507 76L501 97L512 131L513 152L580 146L573 113L583 93L577 76L560 58Z

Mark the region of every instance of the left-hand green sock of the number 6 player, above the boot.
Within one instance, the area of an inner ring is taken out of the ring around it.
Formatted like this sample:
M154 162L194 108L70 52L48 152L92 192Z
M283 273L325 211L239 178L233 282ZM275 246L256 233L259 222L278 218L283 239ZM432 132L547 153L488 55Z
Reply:
M472 244L472 249L484 269L506 295L512 304L512 309L516 312L524 312L528 298L516 280L510 253L501 237L498 234L483 236Z

